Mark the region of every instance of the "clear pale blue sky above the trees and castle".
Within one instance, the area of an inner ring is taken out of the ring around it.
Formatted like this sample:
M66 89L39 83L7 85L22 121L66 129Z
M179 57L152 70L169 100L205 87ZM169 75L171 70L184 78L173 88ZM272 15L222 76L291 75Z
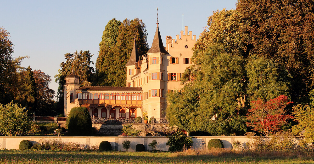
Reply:
M54 76L65 61L64 54L89 50L96 62L102 32L112 18L122 21L136 17L143 20L148 32L149 46L156 30L158 7L160 34L173 38L184 26L199 34L207 26L208 16L223 8L236 9L237 0L209 1L5 1L0 0L0 26L11 35L12 56L29 56L22 66L40 69L51 76L51 89L57 91ZM95 67L95 65L93 65Z

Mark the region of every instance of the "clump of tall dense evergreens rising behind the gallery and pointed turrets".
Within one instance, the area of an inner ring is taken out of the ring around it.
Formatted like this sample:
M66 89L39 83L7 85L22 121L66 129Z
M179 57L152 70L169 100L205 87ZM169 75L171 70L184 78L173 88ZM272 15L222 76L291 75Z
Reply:
M146 26L141 19L116 19L108 22L100 42L96 61L95 85L126 86L126 72L123 68L131 56L134 37L139 55L148 49Z

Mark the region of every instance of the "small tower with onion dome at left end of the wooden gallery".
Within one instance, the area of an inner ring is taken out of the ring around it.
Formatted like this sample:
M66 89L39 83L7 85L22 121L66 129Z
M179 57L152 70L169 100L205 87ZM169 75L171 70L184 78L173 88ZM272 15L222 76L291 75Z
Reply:
M79 77L74 75L74 69L72 73L65 77L64 85L64 116L67 117L70 110L75 106L74 100L77 98L76 89L80 87Z

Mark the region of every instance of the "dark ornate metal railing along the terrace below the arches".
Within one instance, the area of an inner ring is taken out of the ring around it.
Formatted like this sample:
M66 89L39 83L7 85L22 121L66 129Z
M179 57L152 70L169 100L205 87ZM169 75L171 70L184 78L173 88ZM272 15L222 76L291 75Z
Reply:
M92 123L99 124L142 124L142 118L91 118ZM150 124L169 124L166 118L152 118Z

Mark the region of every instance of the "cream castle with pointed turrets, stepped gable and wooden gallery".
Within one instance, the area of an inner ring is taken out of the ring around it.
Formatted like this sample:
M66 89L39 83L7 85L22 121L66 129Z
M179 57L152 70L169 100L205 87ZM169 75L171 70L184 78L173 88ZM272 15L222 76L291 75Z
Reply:
M136 118L147 112L148 117L164 118L166 93L179 90L181 75L192 64L192 47L196 35L185 27L176 39L166 36L164 47L157 23L151 48L139 60L136 40L127 69L126 87L80 87L74 72L64 85L64 115L71 108L90 104L90 115L99 118Z

